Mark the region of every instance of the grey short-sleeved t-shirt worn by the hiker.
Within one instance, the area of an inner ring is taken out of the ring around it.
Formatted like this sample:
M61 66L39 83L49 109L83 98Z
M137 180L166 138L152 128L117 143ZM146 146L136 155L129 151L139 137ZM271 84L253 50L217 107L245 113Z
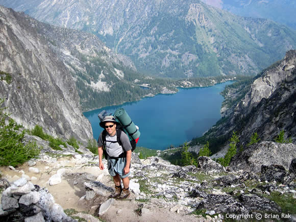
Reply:
M102 133L100 134L97 140L98 147L104 146ZM108 141L112 141L112 142L108 142ZM119 145L119 143L116 141L117 141L116 134L114 136L110 136L108 133L106 133L106 151L110 157L118 157L121 153L124 152L124 150L125 151L132 150L130 139L124 131L122 131L120 135L120 141L122 143L122 146Z

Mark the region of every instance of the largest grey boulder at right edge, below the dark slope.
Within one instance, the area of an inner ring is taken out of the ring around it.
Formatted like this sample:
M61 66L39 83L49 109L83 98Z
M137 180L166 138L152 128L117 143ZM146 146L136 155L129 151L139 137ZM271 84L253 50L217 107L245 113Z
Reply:
M236 171L244 170L255 173L261 171L261 165L278 164L289 169L291 161L296 158L295 150L296 145L293 143L262 141L235 155L229 167Z

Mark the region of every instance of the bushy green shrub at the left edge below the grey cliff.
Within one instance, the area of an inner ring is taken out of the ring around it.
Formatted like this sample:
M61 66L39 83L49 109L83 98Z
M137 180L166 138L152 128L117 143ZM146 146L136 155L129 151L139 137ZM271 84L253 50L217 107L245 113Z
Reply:
M0 106L3 102L4 100L0 101ZM0 166L17 166L38 157L40 148L36 143L22 143L24 131L19 131L22 126L9 118L4 109L0 108Z

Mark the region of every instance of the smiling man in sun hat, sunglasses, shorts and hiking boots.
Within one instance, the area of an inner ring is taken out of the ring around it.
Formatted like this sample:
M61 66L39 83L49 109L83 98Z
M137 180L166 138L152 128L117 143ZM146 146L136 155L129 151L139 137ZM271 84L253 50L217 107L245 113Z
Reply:
M117 142L116 127L119 126L114 116L106 116L100 122L100 126L105 130L98 137L98 160L101 170L104 169L102 157L107 155L109 174L113 177L115 184L115 192L110 195L110 198L126 199L131 195L129 190L130 179L130 164L132 157L132 146L128 135L121 131L120 143ZM106 133L107 132L107 133ZM105 135L105 136L104 136ZM105 138L104 138L105 137ZM124 187L121 187L121 180Z

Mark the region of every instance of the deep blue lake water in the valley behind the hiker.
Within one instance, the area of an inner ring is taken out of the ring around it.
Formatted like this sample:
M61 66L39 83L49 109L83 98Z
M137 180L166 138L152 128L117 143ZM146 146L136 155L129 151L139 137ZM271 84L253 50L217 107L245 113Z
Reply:
M98 125L97 114L102 110L114 113L118 108L124 108L141 132L137 146L163 150L201 136L212 127L220 119L224 100L220 92L229 84L231 82L180 88L176 94L158 94L137 102L92 110L84 115L89 119L93 136L97 139L103 130Z

